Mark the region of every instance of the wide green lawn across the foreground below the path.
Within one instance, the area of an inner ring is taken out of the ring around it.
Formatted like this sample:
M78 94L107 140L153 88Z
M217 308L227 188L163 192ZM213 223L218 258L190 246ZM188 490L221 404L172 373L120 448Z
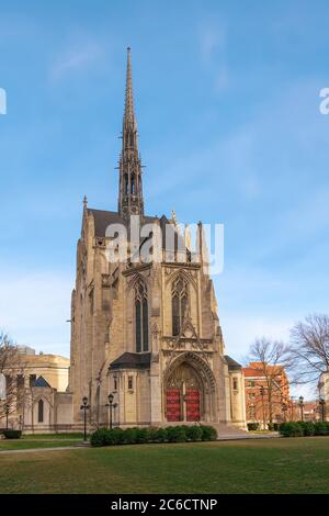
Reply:
M329 437L0 453L0 492L329 493Z

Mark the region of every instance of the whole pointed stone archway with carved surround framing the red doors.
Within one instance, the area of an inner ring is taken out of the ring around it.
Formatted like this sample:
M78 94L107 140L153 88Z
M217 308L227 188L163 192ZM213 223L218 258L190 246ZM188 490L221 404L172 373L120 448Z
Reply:
M215 380L195 354L182 354L163 379L167 422L216 420Z

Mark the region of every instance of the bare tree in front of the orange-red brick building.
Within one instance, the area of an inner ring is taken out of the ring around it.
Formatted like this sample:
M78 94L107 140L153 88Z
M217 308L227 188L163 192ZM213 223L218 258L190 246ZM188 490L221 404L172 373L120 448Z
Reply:
M260 396L263 419L273 423L274 410L281 414L282 404L288 402L288 379L286 372L292 368L288 346L265 337L257 339L250 347L249 368L259 377Z

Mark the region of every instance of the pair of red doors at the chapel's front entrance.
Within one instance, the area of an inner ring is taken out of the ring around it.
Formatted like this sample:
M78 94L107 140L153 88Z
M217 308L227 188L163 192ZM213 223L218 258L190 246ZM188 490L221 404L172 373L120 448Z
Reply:
M186 389L182 396L180 389L167 390L167 420L179 422L183 419L181 402L184 400L186 420L200 420L200 391L197 389Z

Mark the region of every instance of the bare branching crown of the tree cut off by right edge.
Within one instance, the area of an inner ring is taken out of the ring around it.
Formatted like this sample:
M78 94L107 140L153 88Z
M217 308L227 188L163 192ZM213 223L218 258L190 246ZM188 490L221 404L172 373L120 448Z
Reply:
M329 315L313 314L291 330L296 383L317 382L329 370Z

